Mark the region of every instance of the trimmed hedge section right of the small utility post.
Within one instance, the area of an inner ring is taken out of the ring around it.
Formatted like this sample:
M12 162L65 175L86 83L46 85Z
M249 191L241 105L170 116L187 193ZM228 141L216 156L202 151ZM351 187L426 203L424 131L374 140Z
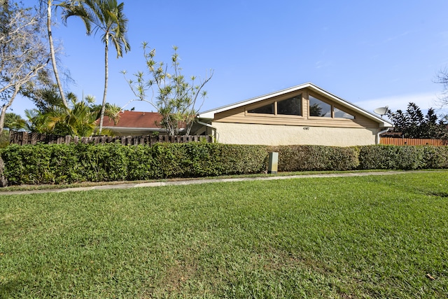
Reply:
M272 146L280 172L353 169L446 169L448 146Z

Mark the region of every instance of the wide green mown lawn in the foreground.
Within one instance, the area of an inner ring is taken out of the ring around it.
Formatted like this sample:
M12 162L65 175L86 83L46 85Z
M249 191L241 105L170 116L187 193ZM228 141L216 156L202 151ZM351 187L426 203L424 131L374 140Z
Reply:
M0 298L447 297L448 172L0 195Z

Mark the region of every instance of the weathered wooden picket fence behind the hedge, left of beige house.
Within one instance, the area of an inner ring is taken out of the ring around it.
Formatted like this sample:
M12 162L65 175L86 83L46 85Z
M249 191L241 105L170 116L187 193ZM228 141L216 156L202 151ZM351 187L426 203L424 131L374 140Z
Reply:
M108 143L120 143L125 146L134 146L137 144L144 144L151 146L157 142L171 142L171 143L186 143L206 141L213 142L210 136L204 135L179 135L168 136L159 135L157 137L153 135L144 136L94 136L94 137L71 137L71 136L57 136L51 134L38 134L28 132L11 132L10 144L19 144L20 146L25 144L108 144Z

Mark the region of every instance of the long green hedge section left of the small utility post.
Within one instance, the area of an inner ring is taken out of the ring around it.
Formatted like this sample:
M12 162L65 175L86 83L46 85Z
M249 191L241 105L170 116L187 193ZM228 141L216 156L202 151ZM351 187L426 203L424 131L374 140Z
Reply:
M253 174L265 171L265 146L227 144L11 145L1 150L10 185Z

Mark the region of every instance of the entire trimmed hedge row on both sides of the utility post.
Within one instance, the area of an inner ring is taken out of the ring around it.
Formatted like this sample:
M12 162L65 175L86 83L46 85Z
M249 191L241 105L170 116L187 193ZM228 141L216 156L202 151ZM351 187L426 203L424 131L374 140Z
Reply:
M10 185L136 181L265 172L269 151L279 172L448 168L447 146L251 146L231 144L11 145L0 151Z

